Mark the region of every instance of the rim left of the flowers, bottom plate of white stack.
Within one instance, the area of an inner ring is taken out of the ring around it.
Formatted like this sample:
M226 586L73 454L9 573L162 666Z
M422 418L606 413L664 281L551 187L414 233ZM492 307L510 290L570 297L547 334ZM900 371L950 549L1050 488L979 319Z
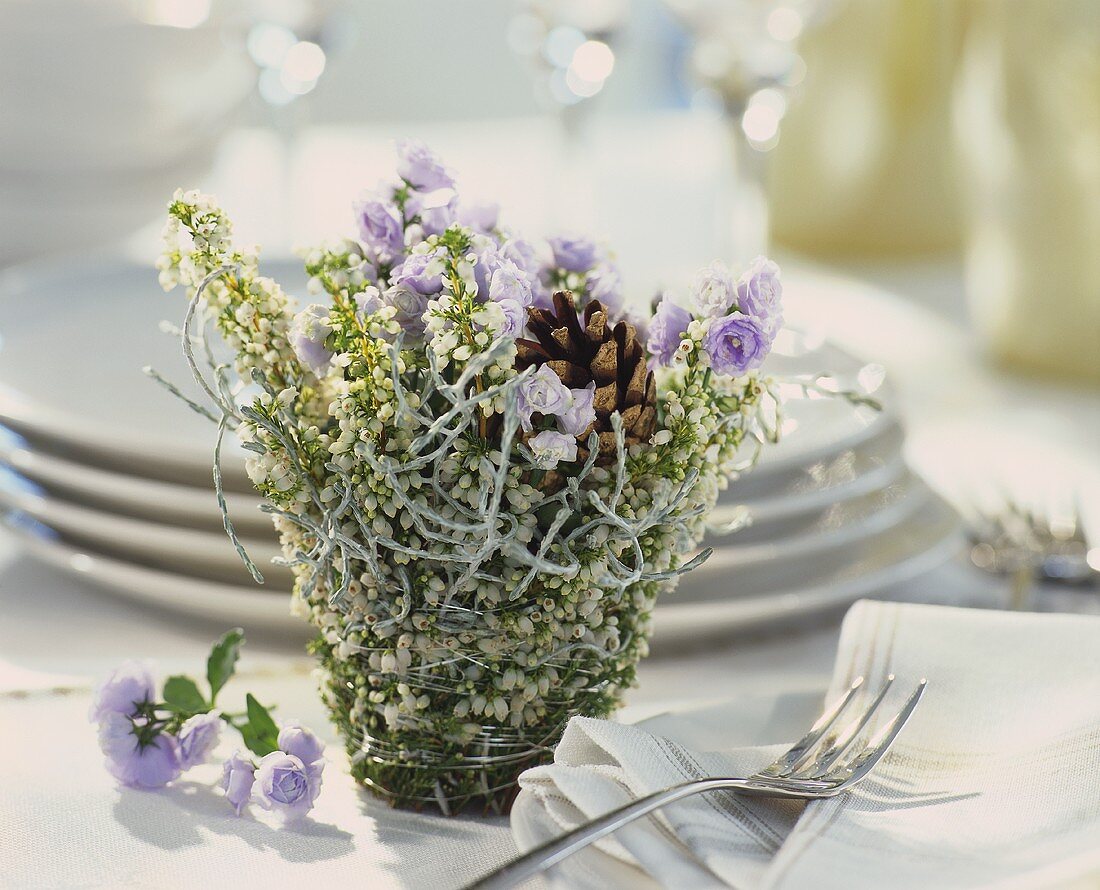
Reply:
M134 565L66 543L31 520L9 515L3 521L35 559L119 596L217 622L223 627L241 625L245 630L255 627L301 639L310 636L305 622L290 615L288 595L270 596L262 587L219 584Z

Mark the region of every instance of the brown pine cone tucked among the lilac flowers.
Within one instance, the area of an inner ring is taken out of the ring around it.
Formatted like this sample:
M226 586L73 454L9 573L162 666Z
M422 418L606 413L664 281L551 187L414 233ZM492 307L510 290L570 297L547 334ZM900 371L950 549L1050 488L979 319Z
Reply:
M646 367L646 350L628 321L612 327L607 310L598 300L584 307L578 317L573 295L553 295L554 311L528 309L527 327L536 340L518 339L516 367L549 365L572 389L596 384L595 425L579 437L578 460L587 460L587 438L600 433L600 463L615 460L615 433L610 417L623 416L626 446L648 442L657 426L657 385Z

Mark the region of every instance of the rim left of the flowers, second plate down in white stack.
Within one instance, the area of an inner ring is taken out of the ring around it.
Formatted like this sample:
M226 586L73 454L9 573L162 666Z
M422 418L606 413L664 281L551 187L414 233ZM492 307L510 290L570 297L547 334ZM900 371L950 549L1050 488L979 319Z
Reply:
M222 529L221 510L210 480L199 487L103 470L37 451L26 439L3 427L0 427L0 465L10 466L46 493L65 501L136 519L207 531ZM229 492L226 503L238 531L260 537L273 535L271 517L260 510L258 495Z

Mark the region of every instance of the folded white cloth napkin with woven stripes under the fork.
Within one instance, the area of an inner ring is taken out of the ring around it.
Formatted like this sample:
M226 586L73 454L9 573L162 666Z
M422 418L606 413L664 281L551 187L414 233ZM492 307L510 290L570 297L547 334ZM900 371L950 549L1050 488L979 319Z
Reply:
M920 678L928 690L856 791L809 805L691 798L559 877L603 888L1097 886L1100 618L857 603L826 697L859 674L875 690L888 673L898 679L883 719ZM704 752L574 718L554 762L520 778L513 833L526 849L632 796L747 776L784 747Z

